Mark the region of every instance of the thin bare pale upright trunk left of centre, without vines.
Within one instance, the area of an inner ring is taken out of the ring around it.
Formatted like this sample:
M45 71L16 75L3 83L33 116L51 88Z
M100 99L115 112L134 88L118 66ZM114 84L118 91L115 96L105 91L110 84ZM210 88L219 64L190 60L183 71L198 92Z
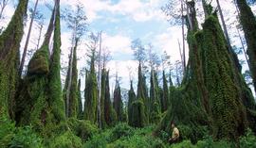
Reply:
M98 86L99 86L99 93L98 93L98 123L99 123L99 127L101 128L101 34L102 31L100 33L100 61L99 61L99 66L98 66Z

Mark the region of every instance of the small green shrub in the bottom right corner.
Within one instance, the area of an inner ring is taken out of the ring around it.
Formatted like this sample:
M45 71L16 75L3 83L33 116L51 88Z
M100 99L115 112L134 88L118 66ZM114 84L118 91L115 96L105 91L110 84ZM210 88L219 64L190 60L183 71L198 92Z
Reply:
M256 147L256 136L253 135L251 129L247 129L247 133L244 137L239 140L240 147L255 148Z

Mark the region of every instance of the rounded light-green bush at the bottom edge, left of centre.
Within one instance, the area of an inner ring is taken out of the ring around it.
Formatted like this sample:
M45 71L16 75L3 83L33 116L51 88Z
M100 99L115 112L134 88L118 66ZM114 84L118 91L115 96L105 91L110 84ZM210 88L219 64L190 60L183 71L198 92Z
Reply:
M49 143L49 148L81 148L82 140L71 131L53 138Z

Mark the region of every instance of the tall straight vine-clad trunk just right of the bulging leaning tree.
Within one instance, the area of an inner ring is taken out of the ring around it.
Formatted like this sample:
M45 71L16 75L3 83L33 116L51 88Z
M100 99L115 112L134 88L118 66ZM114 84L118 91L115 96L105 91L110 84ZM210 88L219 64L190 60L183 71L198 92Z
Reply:
M48 106L52 110L55 120L52 123L60 123L64 118L64 101L61 81L61 21L60 0L56 2L56 17L53 36L53 53L50 57L48 74L49 99Z

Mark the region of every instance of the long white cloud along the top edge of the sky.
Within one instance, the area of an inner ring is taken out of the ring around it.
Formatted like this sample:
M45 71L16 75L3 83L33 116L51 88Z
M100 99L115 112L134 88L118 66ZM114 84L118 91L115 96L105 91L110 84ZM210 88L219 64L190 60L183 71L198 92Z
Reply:
M74 7L78 1L64 0L64 5ZM151 19L163 19L164 15L160 10L160 1L151 0L141 2L140 0L120 0L117 4L112 4L111 0L81 0L89 22L100 19L101 11L112 12L113 14L122 14L130 16L137 22L145 22Z

